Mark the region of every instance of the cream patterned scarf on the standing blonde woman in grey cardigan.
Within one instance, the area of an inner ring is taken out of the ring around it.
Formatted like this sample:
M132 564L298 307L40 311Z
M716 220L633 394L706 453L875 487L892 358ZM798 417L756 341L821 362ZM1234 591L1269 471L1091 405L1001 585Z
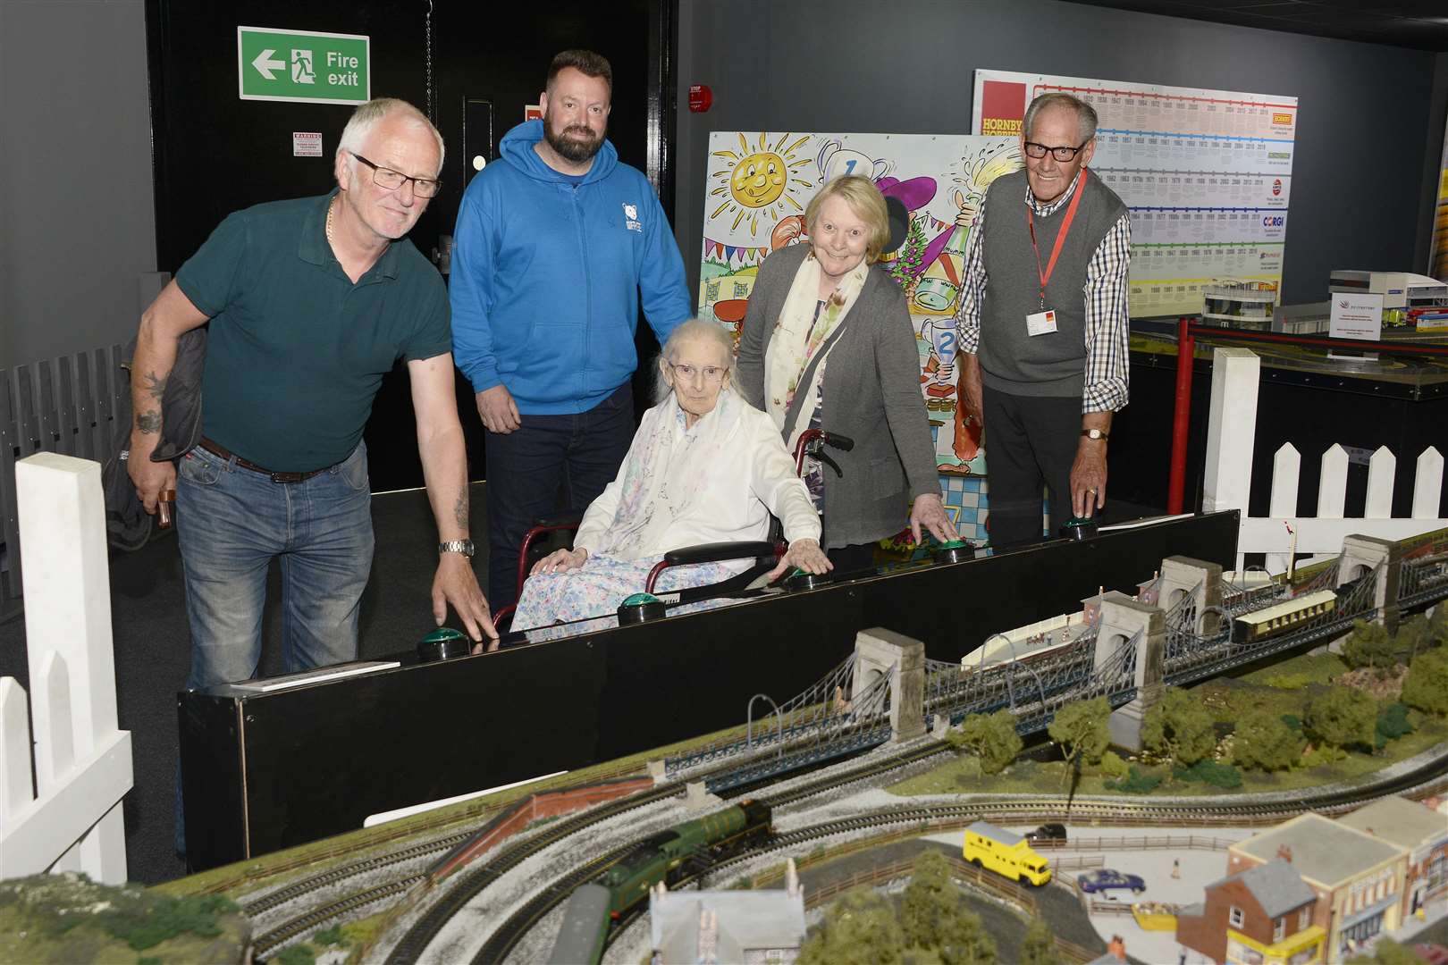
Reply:
M799 378L820 346L850 314L869 276L870 266L862 260L840 279L840 285L824 308L820 308L820 318L815 321L815 308L820 304L820 262L814 252L805 256L799 271L795 272L795 282L789 286L785 305L779 311L779 321L775 323L775 331L765 349L765 411L780 431L785 428L785 417L794 405L795 395L805 392L799 417L795 418L789 438L785 440L789 451L795 450L799 434L809 428L809 418L820 402L820 382L824 379L828 356L820 359L809 385L801 386Z

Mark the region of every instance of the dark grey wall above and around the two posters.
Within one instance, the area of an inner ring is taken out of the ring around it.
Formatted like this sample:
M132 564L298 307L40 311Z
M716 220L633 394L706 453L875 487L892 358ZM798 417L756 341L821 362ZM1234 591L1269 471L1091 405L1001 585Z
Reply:
M1295 95L1286 301L1325 298L1335 268L1423 269L1448 82L1429 52L1057 0L696 0L679 38L681 95L714 88L676 140L695 286L711 130L969 132L977 68Z

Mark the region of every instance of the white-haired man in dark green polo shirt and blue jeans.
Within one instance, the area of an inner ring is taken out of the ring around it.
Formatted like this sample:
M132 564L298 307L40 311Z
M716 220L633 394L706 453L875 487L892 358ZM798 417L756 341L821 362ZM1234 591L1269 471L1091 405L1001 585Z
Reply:
M255 676L274 557L285 668L356 658L372 566L362 428L398 357L440 540L433 616L442 625L452 605L473 639L497 635L472 571L447 291L404 237L442 159L416 107L362 104L342 133L336 191L236 211L140 318L127 466L148 512L177 490L188 689ZM209 320L203 440L180 469L151 462L177 339Z

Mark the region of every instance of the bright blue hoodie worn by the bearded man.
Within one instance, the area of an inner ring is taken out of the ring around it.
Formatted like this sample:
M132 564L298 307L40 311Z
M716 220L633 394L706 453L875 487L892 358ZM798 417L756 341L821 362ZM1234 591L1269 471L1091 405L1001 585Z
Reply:
M628 381L640 292L660 344L692 314L647 178L604 140L573 185L533 150L542 139L542 120L518 124L468 185L449 282L458 367L524 415L584 412Z

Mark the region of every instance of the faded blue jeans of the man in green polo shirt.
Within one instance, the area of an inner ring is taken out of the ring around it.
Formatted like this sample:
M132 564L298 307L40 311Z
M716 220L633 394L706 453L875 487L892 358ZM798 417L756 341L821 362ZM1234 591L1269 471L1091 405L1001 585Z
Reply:
M177 537L191 624L187 690L256 674L272 557L281 560L284 670L356 660L372 569L365 444L297 483L194 449L177 466ZM180 760L175 816L175 848L185 854Z

